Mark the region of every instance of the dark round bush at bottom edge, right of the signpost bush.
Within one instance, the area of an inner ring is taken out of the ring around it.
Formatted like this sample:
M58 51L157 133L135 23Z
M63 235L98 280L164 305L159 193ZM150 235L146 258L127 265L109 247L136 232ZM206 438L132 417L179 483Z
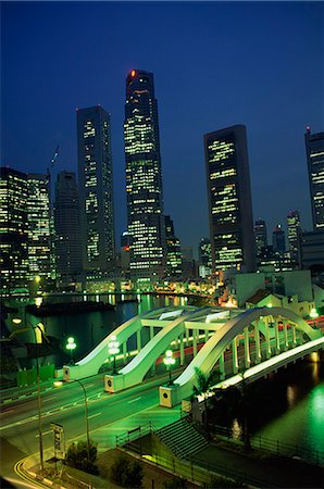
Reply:
M111 466L111 478L119 486L140 488L144 469L137 461L132 462L128 457L121 455Z

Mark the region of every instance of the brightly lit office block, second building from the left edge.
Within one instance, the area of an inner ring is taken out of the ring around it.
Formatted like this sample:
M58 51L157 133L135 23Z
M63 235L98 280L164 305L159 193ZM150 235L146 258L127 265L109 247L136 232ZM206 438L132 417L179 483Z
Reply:
M51 278L50 185L48 175L27 174L29 278ZM43 284L43 283L42 283Z

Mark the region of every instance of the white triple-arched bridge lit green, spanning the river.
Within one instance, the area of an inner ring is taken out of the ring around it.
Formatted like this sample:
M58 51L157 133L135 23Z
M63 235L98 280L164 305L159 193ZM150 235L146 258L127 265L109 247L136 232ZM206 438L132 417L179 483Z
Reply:
M224 387L240 381L240 371L247 381L252 381L324 348L320 329L313 329L283 308L242 311L170 306L135 316L119 326L77 364L64 366L63 378L97 374L108 360L108 346L114 336L124 366L115 375L104 376L104 389L116 392L140 384L165 350L172 349L184 369L171 386L160 387L160 404L170 408L191 394L196 368L204 375L217 368ZM130 349L134 339L135 351ZM187 347L194 359L185 367Z

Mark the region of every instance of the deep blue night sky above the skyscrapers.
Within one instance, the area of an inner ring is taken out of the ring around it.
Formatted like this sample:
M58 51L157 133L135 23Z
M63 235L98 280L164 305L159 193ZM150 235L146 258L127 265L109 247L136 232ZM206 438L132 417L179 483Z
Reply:
M203 135L248 134L253 218L311 229L306 126L324 130L322 2L2 2L1 165L77 171L76 108L111 114L116 243L126 229L125 79L153 72L164 210L209 236Z

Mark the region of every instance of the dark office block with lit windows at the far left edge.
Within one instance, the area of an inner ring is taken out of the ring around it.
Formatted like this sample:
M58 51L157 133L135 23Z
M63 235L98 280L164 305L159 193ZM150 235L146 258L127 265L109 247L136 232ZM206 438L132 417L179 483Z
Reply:
M0 167L0 288L10 292L28 284L27 176Z

